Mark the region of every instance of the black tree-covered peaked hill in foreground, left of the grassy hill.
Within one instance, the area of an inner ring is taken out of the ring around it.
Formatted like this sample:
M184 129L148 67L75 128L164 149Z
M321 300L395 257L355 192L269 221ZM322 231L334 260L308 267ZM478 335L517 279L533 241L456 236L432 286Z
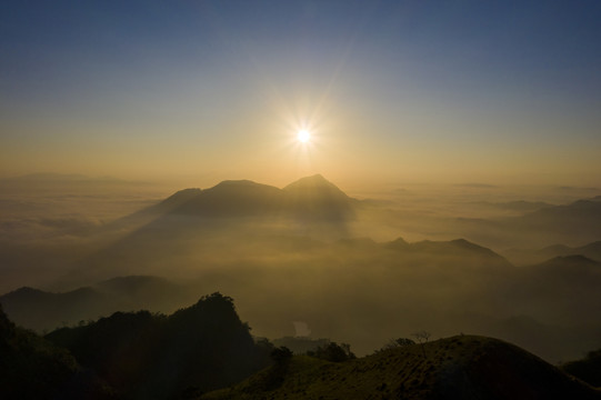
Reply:
M117 312L47 336L124 398L171 399L232 384L269 363L231 298L213 293L170 317Z

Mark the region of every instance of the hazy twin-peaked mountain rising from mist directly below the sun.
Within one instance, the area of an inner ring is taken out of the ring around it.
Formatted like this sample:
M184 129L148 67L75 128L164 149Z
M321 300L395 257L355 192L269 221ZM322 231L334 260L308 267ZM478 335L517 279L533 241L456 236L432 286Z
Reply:
M339 234L344 232L343 226L354 217L353 209L360 204L319 174L302 178L283 189L250 180L227 180L204 190L180 190L157 204L104 224L99 231L136 229L126 240L149 232L153 236L150 240L162 233L164 237L160 239L169 240L173 236L186 236L189 230L198 232L254 218L262 222L284 220L304 226L325 223ZM203 221L183 217L198 217Z

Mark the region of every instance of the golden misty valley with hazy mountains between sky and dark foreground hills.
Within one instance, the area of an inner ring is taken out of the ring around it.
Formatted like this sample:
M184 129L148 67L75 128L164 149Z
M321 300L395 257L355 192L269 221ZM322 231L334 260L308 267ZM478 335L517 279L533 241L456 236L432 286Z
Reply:
M551 362L601 346L595 189L355 197L321 176L180 191L37 179L3 182L0 289L9 318L39 332L219 291L256 337L329 338L358 354L420 330L492 336Z

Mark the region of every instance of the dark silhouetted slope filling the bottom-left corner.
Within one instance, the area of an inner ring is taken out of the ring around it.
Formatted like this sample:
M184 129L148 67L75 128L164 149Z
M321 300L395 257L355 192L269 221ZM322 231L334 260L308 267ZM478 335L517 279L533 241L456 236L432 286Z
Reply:
M0 307L0 398L111 399L111 390L64 349L17 328Z

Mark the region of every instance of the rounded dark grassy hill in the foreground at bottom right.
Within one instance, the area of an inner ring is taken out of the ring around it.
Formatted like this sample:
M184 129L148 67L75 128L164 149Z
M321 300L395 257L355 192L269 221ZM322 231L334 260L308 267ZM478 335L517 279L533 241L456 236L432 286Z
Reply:
M601 399L527 351L461 336L334 363L305 356L199 399Z

